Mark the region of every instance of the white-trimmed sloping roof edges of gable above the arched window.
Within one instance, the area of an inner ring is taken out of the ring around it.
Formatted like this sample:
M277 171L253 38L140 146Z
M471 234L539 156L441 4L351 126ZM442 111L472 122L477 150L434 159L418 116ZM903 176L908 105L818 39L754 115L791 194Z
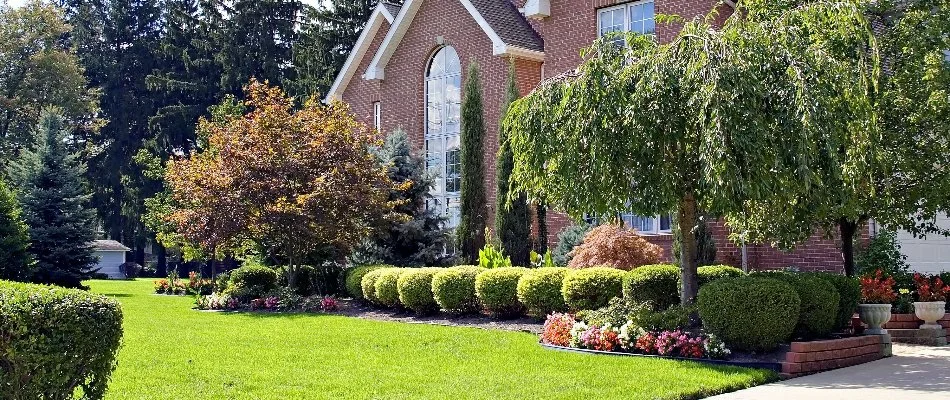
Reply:
M386 65L399 46L413 17L425 0L406 0L383 43L376 51L366 74L367 80L382 80ZM492 54L544 61L544 41L509 0L459 0L485 35L491 39Z

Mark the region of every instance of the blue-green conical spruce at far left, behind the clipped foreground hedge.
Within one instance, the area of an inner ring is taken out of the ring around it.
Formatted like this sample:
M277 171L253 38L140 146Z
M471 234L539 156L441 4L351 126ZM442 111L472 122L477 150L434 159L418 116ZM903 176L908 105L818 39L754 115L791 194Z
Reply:
M19 187L29 250L36 260L33 282L76 288L96 262L96 223L83 166L67 148L67 133L59 111L44 110L36 150L24 152L10 173Z

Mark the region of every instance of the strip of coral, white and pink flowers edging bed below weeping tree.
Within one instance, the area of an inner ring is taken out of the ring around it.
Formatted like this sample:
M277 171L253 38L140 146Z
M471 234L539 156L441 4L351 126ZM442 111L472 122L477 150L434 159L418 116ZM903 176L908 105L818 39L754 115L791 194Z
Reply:
M681 330L647 332L628 321L620 327L588 325L570 314L551 314L544 323L545 344L600 351L622 351L668 357L722 359L731 354L713 335Z

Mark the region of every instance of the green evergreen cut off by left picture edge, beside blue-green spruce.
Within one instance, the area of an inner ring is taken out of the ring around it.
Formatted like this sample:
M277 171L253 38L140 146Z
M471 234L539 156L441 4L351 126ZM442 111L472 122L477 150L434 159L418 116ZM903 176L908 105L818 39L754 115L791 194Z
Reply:
M20 204L0 179L0 279L26 282L33 276L28 248L30 236Z

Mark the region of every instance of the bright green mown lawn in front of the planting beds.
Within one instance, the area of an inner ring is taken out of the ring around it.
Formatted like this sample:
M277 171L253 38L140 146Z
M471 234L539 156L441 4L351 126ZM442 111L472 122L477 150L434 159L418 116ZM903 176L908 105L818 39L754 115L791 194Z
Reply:
M527 333L207 313L151 280L93 281L125 315L108 399L675 399L769 372L546 350Z

